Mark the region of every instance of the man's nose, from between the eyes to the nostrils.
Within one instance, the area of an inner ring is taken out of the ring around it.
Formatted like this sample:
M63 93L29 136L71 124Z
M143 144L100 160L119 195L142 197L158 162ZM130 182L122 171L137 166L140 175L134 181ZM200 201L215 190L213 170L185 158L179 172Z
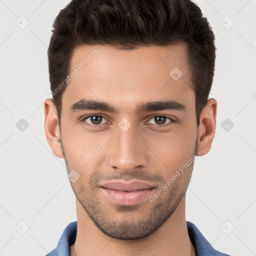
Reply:
M133 126L126 131L117 127L109 145L108 164L122 172L131 172L134 168L146 166L146 146Z

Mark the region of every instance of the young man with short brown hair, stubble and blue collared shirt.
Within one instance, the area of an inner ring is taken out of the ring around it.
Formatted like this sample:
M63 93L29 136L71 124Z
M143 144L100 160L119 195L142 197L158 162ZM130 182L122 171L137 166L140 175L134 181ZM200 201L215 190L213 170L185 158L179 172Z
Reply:
M214 34L190 0L72 0L48 48L44 128L77 221L47 255L227 255L185 220L216 127ZM198 140L197 140L198 138Z

